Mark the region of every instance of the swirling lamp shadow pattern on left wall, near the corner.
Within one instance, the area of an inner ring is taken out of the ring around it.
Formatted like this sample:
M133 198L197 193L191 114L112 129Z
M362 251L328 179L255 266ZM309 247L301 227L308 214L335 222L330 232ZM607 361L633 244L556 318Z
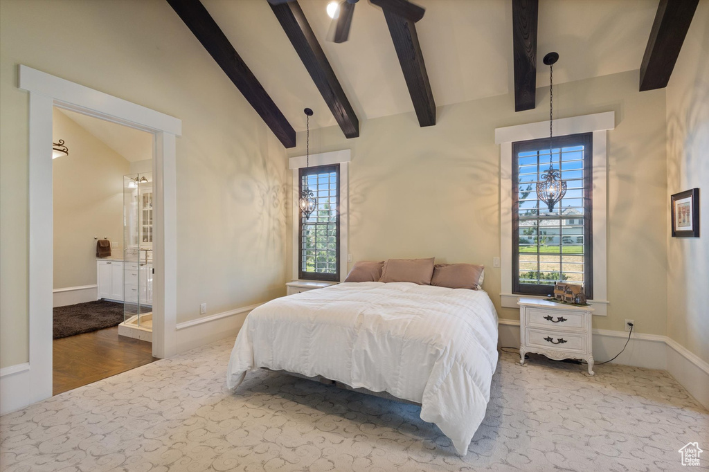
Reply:
M216 245L219 259L229 264L282 265L285 257L287 186L281 154L269 154L265 125L255 123L248 139L223 144L224 154L216 155L213 145L186 142L184 155L196 162L191 170L189 192L199 203L191 215L208 223L204 215L218 218L220 224L206 224L201 244ZM283 169L279 169L279 164ZM196 181L195 181L196 180ZM206 208L201 208L205 206ZM208 208L213 206L213 208Z

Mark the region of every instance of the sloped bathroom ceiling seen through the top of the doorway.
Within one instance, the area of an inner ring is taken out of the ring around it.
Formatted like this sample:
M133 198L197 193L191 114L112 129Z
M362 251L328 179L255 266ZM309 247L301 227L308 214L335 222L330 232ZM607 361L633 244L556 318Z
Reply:
M151 133L62 108L59 111L129 162L152 159Z

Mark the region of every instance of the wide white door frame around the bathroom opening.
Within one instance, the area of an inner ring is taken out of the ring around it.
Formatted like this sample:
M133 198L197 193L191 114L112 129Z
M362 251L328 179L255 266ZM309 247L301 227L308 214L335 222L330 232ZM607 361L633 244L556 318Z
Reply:
M176 137L182 120L104 92L18 67L18 88L29 92L29 373L26 405L52 396L52 108L57 106L155 136L152 161L152 355L176 353L177 172Z

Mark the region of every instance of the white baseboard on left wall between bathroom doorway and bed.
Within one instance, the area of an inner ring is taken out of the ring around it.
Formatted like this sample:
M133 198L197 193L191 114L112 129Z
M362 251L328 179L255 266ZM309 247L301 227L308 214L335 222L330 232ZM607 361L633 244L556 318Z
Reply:
M236 339L241 325L244 324L246 315L251 313L251 310L259 305L262 305L262 303L178 323L177 352L189 351L189 349L193 349L194 347L199 347L225 337L233 337Z

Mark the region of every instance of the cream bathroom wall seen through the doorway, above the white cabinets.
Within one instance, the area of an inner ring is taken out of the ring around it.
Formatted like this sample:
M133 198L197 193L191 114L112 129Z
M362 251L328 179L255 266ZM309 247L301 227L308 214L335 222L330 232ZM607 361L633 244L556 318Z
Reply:
M54 141L69 156L52 160L54 288L96 283L96 240L123 247L123 176L130 163L64 113L52 114ZM94 118L98 119L98 118Z

